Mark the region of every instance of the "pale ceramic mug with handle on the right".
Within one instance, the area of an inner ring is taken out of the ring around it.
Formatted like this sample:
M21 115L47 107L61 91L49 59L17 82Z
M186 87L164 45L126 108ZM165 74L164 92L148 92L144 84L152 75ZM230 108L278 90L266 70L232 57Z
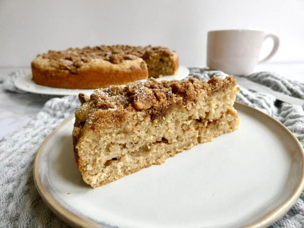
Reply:
M258 61L264 40L274 41L270 54ZM268 61L278 50L279 38L259 30L217 30L208 32L207 66L228 74L247 75L257 63Z

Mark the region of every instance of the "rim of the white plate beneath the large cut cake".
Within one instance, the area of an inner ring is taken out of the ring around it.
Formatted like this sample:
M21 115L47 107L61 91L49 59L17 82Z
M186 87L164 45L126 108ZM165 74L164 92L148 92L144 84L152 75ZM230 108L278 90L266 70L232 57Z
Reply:
M186 67L186 66L179 66L178 68L178 71L179 70L182 70L182 71L187 71L187 76L183 77L182 79L186 78L189 76L189 68ZM43 95L53 95L53 96L68 96L68 95L78 95L79 93L85 93L85 94L88 94L88 93L92 93L95 89L68 89L68 88L56 88L56 87L49 87L49 86L45 86L45 85L38 85L36 84L35 82L32 81L33 83L33 86L34 85L37 85L37 86L41 86L43 90L47 90L47 89L62 89L62 91L60 92L47 92L47 91L36 91L36 90L31 90L31 89L27 89L26 87L22 87L22 86L19 86L18 83L19 83L19 80L22 80L26 77L29 77L32 75L32 72L30 72L29 74L25 74L25 75L22 75L21 77L17 78L16 81L14 82L14 85L16 86L16 88L22 90L22 91L25 91L25 92L29 92L29 93L34 93L34 94L43 94ZM174 76L174 75L165 75L165 76ZM165 77L164 76L164 77ZM182 80L180 79L180 80ZM75 93L73 93L72 91L71 92L68 92L70 90L77 90ZM66 91L66 92L65 92Z

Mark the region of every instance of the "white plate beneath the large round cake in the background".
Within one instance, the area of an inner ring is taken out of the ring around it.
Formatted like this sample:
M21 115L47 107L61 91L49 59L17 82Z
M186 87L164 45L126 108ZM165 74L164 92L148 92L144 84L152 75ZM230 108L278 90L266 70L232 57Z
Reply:
M161 78L157 78L158 81L162 80L182 80L189 75L189 69L184 66L179 66L176 75L167 75ZM15 81L15 86L23 91L47 95L78 95L79 93L84 93L90 95L94 89L63 89L63 88L53 88L43 85L38 85L32 81L32 74L20 77Z

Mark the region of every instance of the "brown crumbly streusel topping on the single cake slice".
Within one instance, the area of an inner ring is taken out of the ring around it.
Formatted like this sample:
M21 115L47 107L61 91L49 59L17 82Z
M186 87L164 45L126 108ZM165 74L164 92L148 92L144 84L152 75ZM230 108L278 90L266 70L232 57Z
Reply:
M152 119L163 116L174 106L187 105L196 102L198 95L205 91L207 94L235 86L232 77L220 79L213 77L208 82L189 78L186 81L157 81L149 78L145 82L128 83L126 86L110 86L96 89L88 98L79 94L81 103L90 100L91 108L98 109L129 109L145 111Z

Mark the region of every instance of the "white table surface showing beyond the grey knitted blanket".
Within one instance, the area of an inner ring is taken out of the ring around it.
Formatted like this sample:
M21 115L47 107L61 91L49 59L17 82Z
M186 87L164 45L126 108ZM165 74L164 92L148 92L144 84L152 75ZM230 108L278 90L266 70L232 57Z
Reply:
M0 67L0 76L19 69L29 69L29 67ZM261 64L255 71L273 71L283 77L304 83L304 62ZM4 91L0 84L0 139L25 126L42 109L45 101L43 98L35 102L29 101L22 94Z

